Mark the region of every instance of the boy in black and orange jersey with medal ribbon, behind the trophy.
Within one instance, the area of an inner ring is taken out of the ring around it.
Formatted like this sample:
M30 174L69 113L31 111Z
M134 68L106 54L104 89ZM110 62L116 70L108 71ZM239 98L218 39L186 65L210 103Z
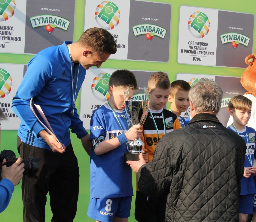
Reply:
M156 72L149 77L148 92L149 111L143 124L141 139L145 145L144 151L149 153L148 160L151 161L160 138L181 128L181 125L174 113L164 109L170 93L170 81L166 73ZM135 219L137 221L164 221L165 205L166 197L147 197L138 190L136 183Z

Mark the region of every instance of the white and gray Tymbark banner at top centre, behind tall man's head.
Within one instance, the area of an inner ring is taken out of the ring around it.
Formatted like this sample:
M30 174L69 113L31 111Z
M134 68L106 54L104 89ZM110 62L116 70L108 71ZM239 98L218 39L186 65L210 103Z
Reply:
M154 9L154 10L152 10ZM171 5L149 1L85 1L84 30L107 29L117 43L112 59L168 62Z

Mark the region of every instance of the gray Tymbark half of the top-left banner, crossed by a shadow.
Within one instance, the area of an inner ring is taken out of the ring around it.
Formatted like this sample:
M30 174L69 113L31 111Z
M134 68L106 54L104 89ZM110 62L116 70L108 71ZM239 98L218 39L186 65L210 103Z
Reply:
M25 53L74 40L75 1L27 0Z

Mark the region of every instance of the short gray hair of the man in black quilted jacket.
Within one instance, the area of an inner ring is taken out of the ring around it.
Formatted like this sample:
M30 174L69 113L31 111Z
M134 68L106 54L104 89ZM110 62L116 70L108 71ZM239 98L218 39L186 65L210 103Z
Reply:
M196 113L212 112L215 115L220 111L222 96L220 85L208 78L199 79L188 93Z

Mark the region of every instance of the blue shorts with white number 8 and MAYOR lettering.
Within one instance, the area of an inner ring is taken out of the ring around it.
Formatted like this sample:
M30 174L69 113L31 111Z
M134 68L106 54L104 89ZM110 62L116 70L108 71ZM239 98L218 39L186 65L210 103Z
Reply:
M132 197L90 199L87 215L102 222L110 222L114 217L128 218L131 214Z

